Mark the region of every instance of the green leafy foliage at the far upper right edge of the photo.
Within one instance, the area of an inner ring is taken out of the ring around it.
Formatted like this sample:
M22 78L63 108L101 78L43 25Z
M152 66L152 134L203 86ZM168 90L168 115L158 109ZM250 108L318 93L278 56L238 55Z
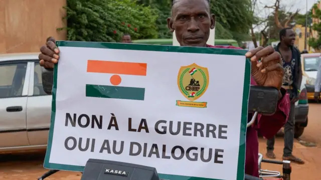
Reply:
M315 14L312 15L314 18L321 19L321 10L317 8L317 4L314 4L313 7ZM321 49L321 22L319 23L314 23L312 25L312 29L317 31L318 37L311 37L308 41L309 46L316 48L316 49Z

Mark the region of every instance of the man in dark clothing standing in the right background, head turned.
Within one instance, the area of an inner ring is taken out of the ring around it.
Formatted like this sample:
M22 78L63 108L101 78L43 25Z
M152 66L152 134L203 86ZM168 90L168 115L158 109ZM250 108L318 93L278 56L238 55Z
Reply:
M287 90L291 100L289 117L284 126L283 159L303 164L303 160L292 155L295 102L298 100L302 80L301 54L299 50L293 46L295 33L291 28L281 29L279 35L280 42L274 49L281 54L283 68L285 70L282 87ZM275 158L275 154L273 152L274 142L275 137L267 140L266 156L269 158Z

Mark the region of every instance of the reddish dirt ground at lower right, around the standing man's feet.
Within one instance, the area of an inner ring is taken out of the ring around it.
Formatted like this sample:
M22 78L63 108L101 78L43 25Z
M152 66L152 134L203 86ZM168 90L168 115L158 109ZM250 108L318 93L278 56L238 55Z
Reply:
M306 147L295 139L293 146L293 155L298 156L305 161L305 164L291 163L292 173L291 180L321 180L321 104L309 103L308 125L304 129L299 140L313 142L315 147ZM259 139L259 151L265 156L266 140ZM282 159L283 154L283 138L277 137L274 145L274 153L277 160ZM262 163L262 169L282 170L282 165Z

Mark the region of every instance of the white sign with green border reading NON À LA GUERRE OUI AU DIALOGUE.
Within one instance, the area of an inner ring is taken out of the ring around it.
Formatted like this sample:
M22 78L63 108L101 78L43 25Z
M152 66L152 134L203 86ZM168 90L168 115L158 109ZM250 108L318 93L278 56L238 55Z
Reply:
M96 158L152 166L172 180L244 179L246 50L57 45L46 168L82 171Z

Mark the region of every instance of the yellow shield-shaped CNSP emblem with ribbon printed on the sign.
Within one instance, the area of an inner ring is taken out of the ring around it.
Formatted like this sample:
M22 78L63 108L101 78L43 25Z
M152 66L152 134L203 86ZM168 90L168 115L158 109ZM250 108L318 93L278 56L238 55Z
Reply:
M182 66L177 77L178 87L181 93L189 100L177 100L176 105L189 107L206 107L207 102L195 102L200 98L209 85L209 71L193 63L188 66Z

